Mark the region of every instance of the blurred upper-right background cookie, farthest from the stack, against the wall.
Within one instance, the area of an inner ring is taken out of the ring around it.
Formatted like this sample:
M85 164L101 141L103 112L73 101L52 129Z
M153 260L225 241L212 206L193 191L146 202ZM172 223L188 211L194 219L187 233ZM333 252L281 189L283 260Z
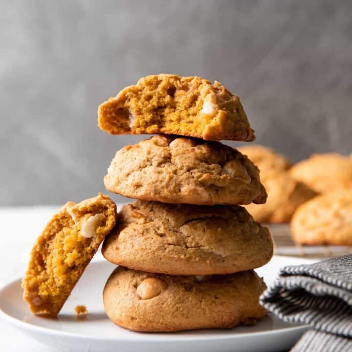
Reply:
M337 153L313 154L290 169L290 174L318 193L352 184L352 159Z

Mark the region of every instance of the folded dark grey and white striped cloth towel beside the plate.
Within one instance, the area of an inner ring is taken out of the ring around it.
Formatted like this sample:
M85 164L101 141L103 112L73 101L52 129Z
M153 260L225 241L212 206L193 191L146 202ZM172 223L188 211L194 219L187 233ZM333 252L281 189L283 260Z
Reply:
M291 351L352 351L352 255L283 267L261 304L286 322L312 328Z

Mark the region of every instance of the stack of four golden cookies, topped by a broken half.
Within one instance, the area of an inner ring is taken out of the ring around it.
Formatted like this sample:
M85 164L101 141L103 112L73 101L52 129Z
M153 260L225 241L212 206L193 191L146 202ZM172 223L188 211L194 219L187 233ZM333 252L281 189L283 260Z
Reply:
M119 265L104 288L110 319L137 331L229 328L265 315L253 271L273 252L239 204L264 203L258 168L222 139L251 141L239 98L218 82L155 75L99 107L112 134L156 133L118 151L107 190L130 198L103 243Z

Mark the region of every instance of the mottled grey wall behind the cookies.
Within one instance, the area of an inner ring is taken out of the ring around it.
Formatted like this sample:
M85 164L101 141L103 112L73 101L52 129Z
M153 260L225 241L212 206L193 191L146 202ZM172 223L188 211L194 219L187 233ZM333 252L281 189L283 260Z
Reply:
M153 73L217 79L293 160L352 151L351 0L0 6L0 205L103 191L115 151L141 138L100 131L97 107Z

